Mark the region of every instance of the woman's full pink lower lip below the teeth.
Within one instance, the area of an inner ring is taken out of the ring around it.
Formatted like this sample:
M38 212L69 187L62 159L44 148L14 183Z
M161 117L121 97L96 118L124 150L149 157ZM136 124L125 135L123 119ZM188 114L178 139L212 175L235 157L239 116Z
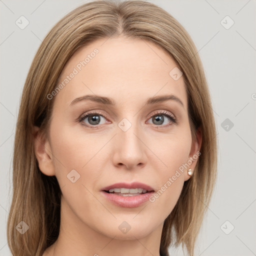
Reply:
M127 208L138 207L142 203L148 201L148 198L150 197L150 195L154 193L153 191L151 191L143 194L122 196L114 193L107 193L105 191L101 191L101 192L110 202L114 203L115 205L118 205L121 207L127 207Z

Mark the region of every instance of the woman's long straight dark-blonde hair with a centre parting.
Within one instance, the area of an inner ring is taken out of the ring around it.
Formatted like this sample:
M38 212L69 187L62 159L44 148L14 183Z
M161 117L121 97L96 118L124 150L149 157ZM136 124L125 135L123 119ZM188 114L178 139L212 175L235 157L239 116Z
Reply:
M169 245L181 243L193 255L217 161L215 122L200 58L186 30L162 8L145 1L103 0L85 3L59 20L43 39L28 71L15 131L13 195L7 221L7 240L14 256L41 256L59 233L61 190L55 176L39 170L33 147L33 126L47 133L54 100L46 95L57 86L61 70L78 48L120 34L160 45L183 72L193 139L201 128L201 155L164 221L160 254L168 255ZM23 234L15 228L21 220L29 227Z

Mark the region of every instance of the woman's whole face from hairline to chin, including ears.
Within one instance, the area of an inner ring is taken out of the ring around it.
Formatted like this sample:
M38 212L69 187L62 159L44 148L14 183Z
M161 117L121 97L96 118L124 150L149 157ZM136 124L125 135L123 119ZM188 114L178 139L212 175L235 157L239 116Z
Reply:
M60 90L48 95L47 139L35 151L40 170L59 182L72 226L118 239L162 227L197 151L184 80L173 68L159 46L122 36L80 48L65 65ZM126 189L102 191L115 183Z

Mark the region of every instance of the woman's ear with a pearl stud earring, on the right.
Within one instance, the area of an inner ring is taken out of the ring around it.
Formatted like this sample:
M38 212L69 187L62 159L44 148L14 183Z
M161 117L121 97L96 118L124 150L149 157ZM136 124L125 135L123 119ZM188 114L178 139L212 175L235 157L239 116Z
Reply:
M185 170L184 181L191 177L187 173L189 168L192 169L192 175L193 175L195 165L198 161L198 158L200 157L199 155L200 155L201 143L202 143L202 133L201 133L201 127L199 127L196 130L196 139L192 140L192 143L191 143L189 158L187 159L187 164L189 166Z

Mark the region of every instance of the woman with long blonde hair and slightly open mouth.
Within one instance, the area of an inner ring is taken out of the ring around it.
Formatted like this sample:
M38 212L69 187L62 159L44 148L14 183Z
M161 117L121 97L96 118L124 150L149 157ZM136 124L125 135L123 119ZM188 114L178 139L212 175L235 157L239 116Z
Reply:
M94 1L49 31L18 114L13 255L168 255L194 244L216 132L185 29L144 1Z

